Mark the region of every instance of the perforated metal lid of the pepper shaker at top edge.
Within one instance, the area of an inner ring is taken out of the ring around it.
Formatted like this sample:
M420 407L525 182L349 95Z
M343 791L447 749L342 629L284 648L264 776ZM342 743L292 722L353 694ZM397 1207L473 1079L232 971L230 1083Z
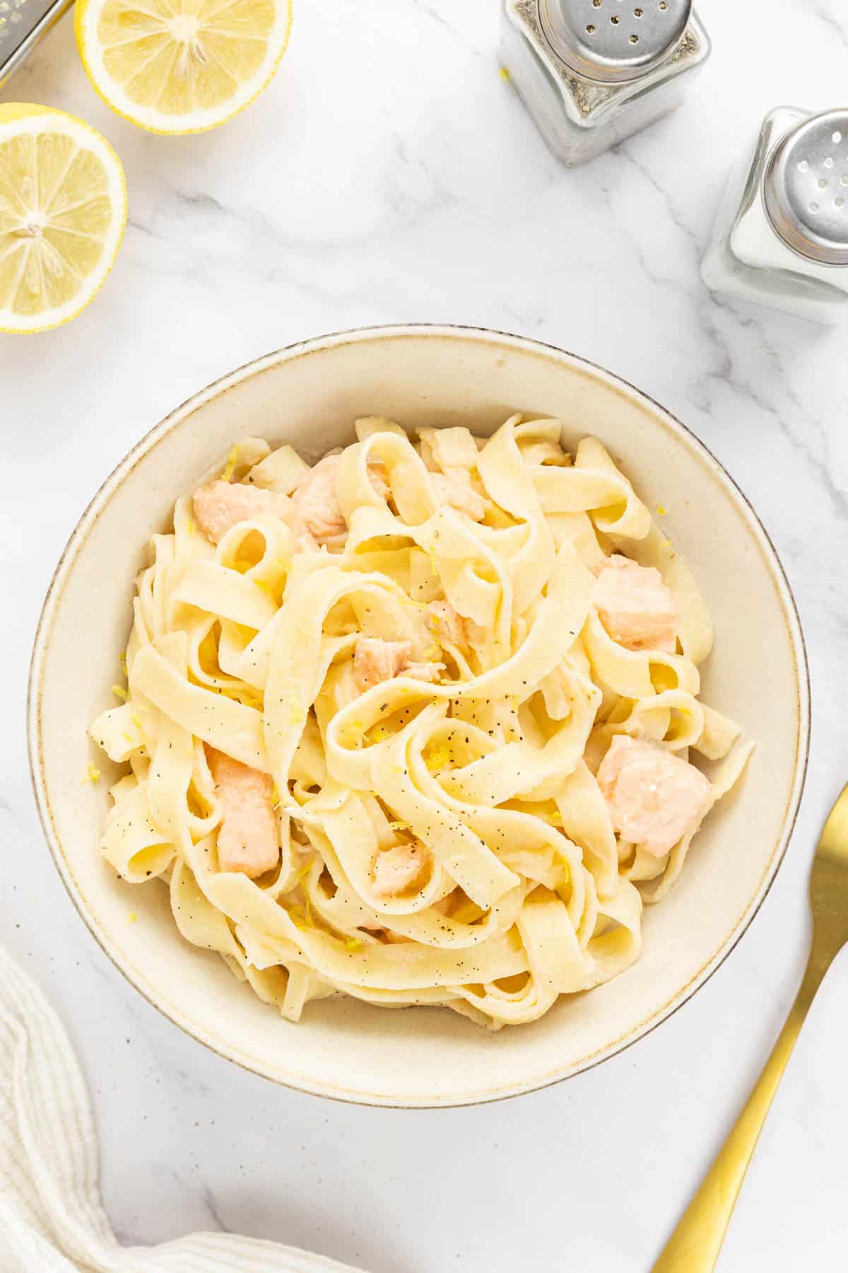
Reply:
M618 84L653 70L683 39L692 0L538 0L557 56L587 79Z

